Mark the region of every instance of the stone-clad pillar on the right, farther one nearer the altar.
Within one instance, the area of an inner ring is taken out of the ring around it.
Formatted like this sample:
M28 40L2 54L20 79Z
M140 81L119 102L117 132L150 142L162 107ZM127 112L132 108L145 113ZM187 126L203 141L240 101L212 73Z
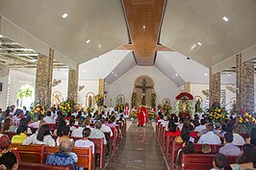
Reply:
M209 71L209 81L210 81L210 108L215 102L220 103L220 72L213 74L212 68Z

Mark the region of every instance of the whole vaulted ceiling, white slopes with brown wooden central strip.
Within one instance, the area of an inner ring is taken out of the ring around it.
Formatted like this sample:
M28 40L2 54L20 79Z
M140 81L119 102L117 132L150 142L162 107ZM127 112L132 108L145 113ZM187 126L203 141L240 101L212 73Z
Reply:
M256 43L255 0L0 0L0 14L0 35L68 66L119 48L141 65L164 49L211 67Z

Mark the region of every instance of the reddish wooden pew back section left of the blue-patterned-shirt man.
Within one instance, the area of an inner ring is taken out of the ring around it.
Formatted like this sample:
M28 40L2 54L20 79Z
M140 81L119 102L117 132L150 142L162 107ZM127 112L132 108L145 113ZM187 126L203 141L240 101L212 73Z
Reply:
M42 163L43 146L42 145L20 145L11 144L9 148L16 148L22 162Z

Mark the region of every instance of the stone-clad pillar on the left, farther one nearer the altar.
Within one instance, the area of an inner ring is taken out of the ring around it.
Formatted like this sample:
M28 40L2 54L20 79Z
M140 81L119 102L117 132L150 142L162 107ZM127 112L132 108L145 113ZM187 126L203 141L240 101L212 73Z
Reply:
M77 103L79 65L76 70L69 68L67 98Z

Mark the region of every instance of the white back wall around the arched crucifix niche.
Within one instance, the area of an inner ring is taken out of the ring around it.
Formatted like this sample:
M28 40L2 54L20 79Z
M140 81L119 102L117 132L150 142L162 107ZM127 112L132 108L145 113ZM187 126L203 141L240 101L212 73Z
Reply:
M173 107L175 97L180 92L180 88L173 84L155 66L135 66L113 84L107 85L109 87L108 103L112 100L110 107L115 107L116 96L118 94L123 94L125 96L125 102L130 105L135 80L141 76L148 76L154 81L154 89L157 94L156 105L162 104L164 98L169 98Z

